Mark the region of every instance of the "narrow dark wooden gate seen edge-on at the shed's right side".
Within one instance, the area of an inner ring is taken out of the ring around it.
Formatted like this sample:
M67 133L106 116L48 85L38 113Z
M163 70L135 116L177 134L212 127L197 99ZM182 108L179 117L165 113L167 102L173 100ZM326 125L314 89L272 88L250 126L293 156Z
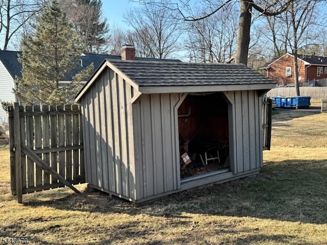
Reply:
M271 142L271 113L272 100L268 97L262 99L262 130L264 137L264 150L270 150Z

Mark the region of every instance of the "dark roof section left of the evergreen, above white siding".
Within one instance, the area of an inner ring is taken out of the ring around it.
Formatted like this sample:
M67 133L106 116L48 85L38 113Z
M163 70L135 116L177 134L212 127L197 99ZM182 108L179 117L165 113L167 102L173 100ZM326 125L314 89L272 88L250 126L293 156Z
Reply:
M0 51L0 61L4 64L12 78L15 78L15 76L21 77L21 64L18 61L19 55L21 55L21 52L18 51Z

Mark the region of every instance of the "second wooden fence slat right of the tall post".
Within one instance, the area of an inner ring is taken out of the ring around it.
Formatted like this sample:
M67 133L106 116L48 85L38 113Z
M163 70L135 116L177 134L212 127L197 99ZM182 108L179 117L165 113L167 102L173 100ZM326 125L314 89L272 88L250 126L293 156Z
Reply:
M26 106L26 111L33 111L32 106ZM33 149L33 131L34 120L33 116L26 118L26 145L28 148ZM31 158L27 157L27 187L34 186L34 162Z

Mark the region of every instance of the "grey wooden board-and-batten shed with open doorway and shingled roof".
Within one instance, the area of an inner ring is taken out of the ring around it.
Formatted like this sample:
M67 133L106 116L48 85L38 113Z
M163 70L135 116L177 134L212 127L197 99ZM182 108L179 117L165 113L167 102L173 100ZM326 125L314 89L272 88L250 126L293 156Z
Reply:
M105 60L76 96L86 181L140 203L258 173L273 87L243 64Z

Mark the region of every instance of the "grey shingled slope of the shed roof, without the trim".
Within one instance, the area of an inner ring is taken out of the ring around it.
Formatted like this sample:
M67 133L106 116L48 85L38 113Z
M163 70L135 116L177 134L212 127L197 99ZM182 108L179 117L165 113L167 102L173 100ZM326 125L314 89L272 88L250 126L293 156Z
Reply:
M272 84L243 64L107 60L139 86Z

